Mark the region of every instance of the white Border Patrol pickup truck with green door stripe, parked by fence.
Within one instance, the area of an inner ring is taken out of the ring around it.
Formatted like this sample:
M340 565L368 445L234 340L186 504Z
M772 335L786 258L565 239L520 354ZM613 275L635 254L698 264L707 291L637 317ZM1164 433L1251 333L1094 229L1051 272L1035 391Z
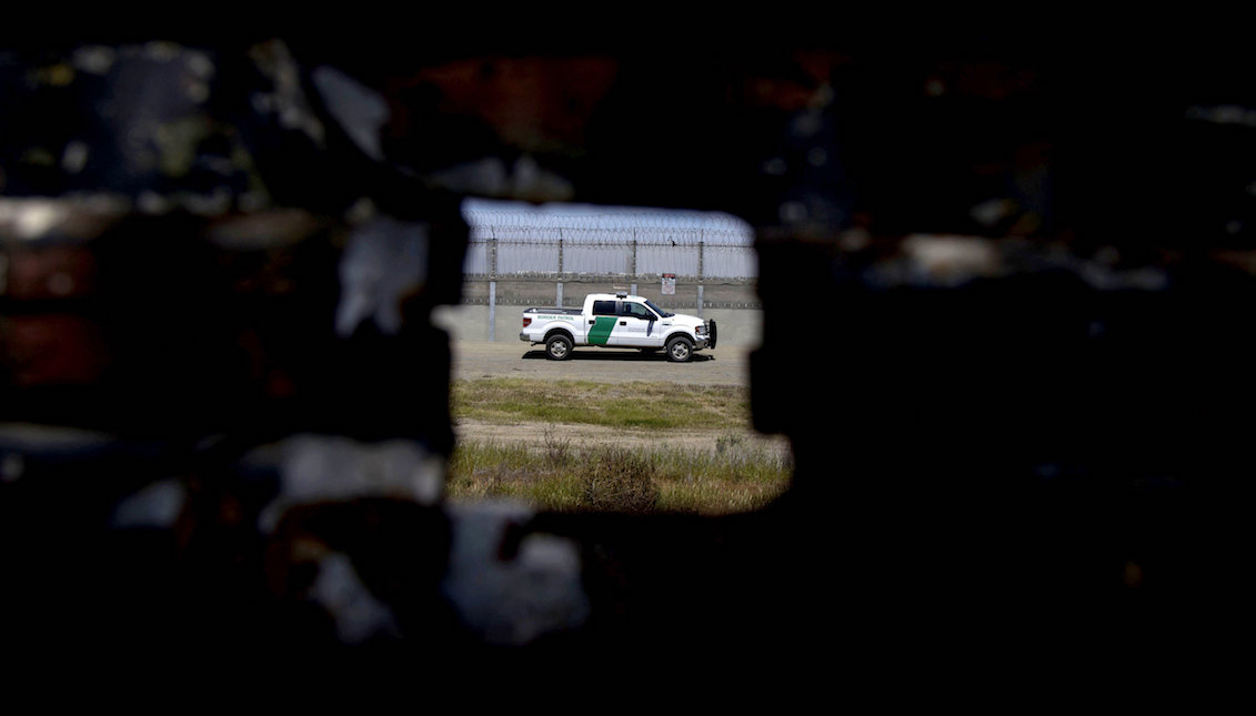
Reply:
M649 300L619 291L589 294L584 308L530 308L524 312L519 339L545 344L545 355L565 361L579 345L667 350L683 363L695 350L715 348L713 320L671 313Z

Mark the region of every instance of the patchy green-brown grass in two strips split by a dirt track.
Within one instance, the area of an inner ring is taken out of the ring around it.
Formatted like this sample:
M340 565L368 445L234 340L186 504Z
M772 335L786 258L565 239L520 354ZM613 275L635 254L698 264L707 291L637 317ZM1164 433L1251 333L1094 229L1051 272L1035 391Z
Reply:
M683 393L685 410L676 406ZM789 485L788 452L749 440L749 396L732 386L485 378L456 381L453 420L541 425L544 438L462 441L452 500L512 497L550 511L730 514L761 507ZM634 438L575 443L564 426ZM677 445L668 431L706 433ZM657 440L652 440L656 437Z

